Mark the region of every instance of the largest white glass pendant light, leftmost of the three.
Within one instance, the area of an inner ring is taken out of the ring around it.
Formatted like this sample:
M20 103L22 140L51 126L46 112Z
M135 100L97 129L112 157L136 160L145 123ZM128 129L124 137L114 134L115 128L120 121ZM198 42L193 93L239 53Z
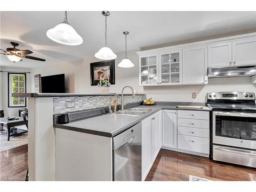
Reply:
M49 29L46 35L59 44L69 46L77 46L83 42L82 37L78 35L76 30L68 23L67 11L65 11L64 21L54 28Z

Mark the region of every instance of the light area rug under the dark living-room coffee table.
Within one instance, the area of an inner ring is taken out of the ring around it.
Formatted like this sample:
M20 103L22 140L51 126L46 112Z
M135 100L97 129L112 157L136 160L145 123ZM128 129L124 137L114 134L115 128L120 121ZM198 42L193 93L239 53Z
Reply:
M12 136L10 137L10 141L7 141L7 135L0 134L0 152L26 144L28 144L28 133L19 136Z

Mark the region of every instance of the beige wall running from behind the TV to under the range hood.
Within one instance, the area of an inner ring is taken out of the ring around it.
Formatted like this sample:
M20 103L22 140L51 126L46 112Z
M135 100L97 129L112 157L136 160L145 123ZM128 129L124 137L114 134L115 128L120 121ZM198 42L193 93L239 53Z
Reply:
M139 60L137 50L129 51L128 57L132 60L134 68L119 68L117 65L124 57L124 53L118 53L115 60L116 84L110 92L121 93L121 89L130 85L138 93L146 93L147 97L152 97L156 101L195 101L204 102L206 93L214 91L248 91L256 93L255 86L251 83L251 77L233 77L209 79L206 86L154 86L139 87ZM67 81L67 92L70 93L96 93L99 88L90 86L90 63L96 62L96 58L76 60L69 63L59 63L54 66L40 67L32 69L32 92L34 91L34 74L53 75L65 73ZM130 93L126 90L126 93ZM192 93L197 93L197 98L192 99Z

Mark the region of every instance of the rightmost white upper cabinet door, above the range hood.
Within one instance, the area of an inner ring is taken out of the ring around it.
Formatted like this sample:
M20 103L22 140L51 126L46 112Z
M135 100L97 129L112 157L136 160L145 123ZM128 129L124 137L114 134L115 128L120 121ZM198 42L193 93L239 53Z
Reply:
M232 42L234 66L256 64L256 37Z

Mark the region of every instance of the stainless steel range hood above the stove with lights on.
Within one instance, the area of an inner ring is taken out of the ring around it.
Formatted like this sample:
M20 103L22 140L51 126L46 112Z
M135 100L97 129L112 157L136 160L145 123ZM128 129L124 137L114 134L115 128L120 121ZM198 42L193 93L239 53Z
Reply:
M208 68L208 78L220 77L245 77L256 74L256 66L231 66L220 68Z

